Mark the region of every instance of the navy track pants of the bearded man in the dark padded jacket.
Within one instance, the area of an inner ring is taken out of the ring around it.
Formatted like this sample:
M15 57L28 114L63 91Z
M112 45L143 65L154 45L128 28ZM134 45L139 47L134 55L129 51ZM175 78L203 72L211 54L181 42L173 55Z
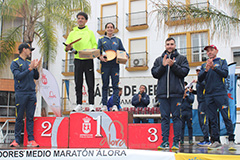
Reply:
M162 140L168 141L170 129L170 113L172 113L174 142L179 142L181 135L182 121L180 118L180 104L182 97L160 98Z

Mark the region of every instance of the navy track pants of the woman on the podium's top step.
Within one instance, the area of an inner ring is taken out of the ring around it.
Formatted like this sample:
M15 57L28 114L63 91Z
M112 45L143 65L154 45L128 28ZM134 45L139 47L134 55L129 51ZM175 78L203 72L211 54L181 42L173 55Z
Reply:
M118 106L118 83L119 83L119 66L104 66L101 68L102 73L102 104L107 105L107 96L108 96L108 88L109 88L109 77L112 79L112 87L113 87L113 105Z

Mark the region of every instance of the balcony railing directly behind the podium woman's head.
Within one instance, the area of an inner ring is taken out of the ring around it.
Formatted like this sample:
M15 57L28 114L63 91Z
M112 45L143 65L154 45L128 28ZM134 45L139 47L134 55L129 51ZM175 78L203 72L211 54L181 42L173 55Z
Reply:
M98 31L105 30L105 25L108 22L112 22L115 25L115 28L118 28L118 16L106 16L106 17L99 17L98 19Z

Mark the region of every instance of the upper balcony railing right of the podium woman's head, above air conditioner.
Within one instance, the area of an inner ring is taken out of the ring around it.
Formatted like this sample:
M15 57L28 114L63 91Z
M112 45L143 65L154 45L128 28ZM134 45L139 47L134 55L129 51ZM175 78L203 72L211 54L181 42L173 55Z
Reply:
M146 25L148 21L147 11L126 13L126 16L127 16L127 27Z

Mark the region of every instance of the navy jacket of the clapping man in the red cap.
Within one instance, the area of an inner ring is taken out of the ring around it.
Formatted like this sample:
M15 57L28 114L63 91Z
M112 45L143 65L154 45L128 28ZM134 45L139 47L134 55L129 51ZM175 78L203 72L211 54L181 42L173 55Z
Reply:
M205 96L217 96L227 94L224 78L228 76L228 65L225 59L215 58L214 69L206 70L206 63L202 64L198 75L200 82L205 80Z

